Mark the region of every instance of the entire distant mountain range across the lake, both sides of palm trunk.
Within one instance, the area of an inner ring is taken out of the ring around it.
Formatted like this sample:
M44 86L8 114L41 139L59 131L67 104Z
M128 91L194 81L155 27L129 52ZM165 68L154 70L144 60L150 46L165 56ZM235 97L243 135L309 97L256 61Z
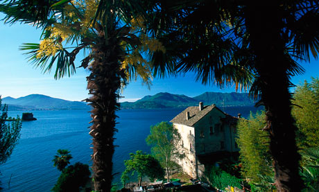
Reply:
M155 109L155 108L182 108L198 105L217 106L252 106L252 101L245 93L220 93L206 92L199 96L189 97L185 95L158 93L153 96L144 96L135 102L121 103L121 109ZM66 101L60 98L52 98L40 94L31 94L20 98L10 96L2 98L2 103L8 104L8 110L89 110L84 102Z

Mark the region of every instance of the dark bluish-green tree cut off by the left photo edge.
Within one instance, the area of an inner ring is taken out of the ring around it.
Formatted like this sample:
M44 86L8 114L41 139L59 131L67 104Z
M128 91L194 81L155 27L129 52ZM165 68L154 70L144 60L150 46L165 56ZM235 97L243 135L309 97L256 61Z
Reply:
M0 96L0 164L3 164L8 160L19 141L22 123L19 116L17 116L15 121L6 123L8 105L1 105L1 101Z

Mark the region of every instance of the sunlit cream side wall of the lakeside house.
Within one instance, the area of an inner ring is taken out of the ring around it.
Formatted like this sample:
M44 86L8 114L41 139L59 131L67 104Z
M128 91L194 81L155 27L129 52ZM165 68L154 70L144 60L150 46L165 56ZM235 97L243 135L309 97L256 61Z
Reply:
M178 148L185 155L183 159L178 159L176 162L182 167L184 173L196 178L196 145L194 128L176 123L174 123L173 126L180 133L181 140Z

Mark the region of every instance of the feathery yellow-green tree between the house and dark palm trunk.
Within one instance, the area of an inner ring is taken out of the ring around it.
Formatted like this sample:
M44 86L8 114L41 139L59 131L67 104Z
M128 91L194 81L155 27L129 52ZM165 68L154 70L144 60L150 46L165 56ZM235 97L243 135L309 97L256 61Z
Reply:
M240 161L242 166L242 175L251 182L261 182L260 175L265 177L273 176L273 168L271 166L271 157L269 147L268 132L264 131L266 125L265 113L257 112L248 120L239 119L237 125L236 143L238 143Z

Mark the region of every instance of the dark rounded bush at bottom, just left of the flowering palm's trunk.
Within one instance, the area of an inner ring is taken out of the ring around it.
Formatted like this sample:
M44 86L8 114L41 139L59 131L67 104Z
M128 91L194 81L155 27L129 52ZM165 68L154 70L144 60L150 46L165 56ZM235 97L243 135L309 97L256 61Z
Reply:
M77 162L65 168L51 191L80 191L89 182L89 166Z

